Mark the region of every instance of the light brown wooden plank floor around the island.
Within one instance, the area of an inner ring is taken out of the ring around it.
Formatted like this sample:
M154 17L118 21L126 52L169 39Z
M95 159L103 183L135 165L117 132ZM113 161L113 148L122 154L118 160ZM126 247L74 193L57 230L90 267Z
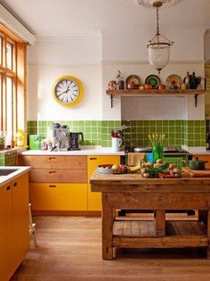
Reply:
M210 260L203 249L117 249L101 259L101 218L35 217L38 247L12 281L207 281Z

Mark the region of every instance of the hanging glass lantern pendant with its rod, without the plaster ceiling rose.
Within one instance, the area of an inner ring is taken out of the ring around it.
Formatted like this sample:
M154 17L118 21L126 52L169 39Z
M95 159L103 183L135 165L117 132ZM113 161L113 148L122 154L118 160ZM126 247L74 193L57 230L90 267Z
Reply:
M153 6L157 9L157 33L149 40L149 63L158 70L162 70L168 63L170 57L170 46L174 42L168 40L166 37L159 33L159 8L162 6L162 1L157 1L153 3Z

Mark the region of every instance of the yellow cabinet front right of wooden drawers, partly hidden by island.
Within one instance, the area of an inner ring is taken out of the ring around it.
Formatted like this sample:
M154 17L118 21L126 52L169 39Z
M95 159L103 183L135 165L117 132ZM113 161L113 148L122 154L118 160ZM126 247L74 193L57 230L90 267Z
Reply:
M101 193L91 191L90 178L93 171L102 164L119 164L120 156L115 155L96 155L87 157L88 169L88 191L87 191L87 210L88 211L101 211Z

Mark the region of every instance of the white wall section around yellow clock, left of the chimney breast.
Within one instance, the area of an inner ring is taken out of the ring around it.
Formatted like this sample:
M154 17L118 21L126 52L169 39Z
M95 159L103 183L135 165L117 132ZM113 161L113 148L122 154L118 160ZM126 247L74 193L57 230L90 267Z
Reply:
M39 38L28 54L28 120L101 120L101 38ZM74 108L52 97L63 75L81 80L84 97Z

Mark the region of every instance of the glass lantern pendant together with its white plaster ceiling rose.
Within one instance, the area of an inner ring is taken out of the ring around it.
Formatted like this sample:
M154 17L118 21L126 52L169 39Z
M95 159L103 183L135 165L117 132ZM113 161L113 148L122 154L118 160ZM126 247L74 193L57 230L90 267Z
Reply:
M141 4L146 8L156 8L157 11L157 32L151 40L149 40L149 44L147 45L149 50L149 63L152 65L158 73L162 70L167 63L169 62L170 57L170 46L174 44L173 41L170 41L166 37L160 34L159 32L159 9L163 5L173 5L181 0L136 0L136 4Z

